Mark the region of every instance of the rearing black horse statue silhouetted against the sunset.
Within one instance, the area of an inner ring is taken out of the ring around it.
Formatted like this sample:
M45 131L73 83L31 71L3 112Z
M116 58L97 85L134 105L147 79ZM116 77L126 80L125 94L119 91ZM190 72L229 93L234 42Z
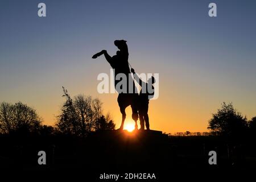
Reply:
M126 44L126 40L115 40L114 41L115 46L119 49L117 51L117 55L114 55L113 57L109 56L108 52L106 50L102 50L101 52L96 53L93 55L93 59L96 59L98 56L101 56L104 54L106 60L109 62L111 67L114 69L114 78L118 73L123 73L126 75L127 80L129 80L129 77L131 77L131 72L129 68L129 63L128 63L128 47ZM133 78L130 78L133 80ZM118 84L119 80L115 79L115 88ZM129 86L133 86L133 93L129 93ZM120 111L122 113L122 123L119 129L123 129L123 125L125 123L125 118L126 118L126 113L125 109L127 106L131 106L131 109L133 111L132 118L135 121L135 129L138 129L137 125L137 120L138 120L138 109L137 109L137 104L136 102L138 101L138 92L137 88L135 87L134 81L132 85L129 85L129 81L127 81L127 86L126 86L126 92L120 92L117 90L118 98L117 102L120 108Z

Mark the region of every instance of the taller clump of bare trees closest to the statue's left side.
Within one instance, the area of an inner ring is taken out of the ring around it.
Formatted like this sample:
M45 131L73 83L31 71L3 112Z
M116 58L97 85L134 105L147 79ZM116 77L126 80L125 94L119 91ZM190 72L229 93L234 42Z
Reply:
M107 122L105 117L102 118L102 102L98 98L93 99L91 96L79 94L72 99L65 88L63 92L66 101L61 107L61 114L57 117L56 123L61 133L85 137L92 131L114 128L112 120ZM107 118L110 120L109 115Z

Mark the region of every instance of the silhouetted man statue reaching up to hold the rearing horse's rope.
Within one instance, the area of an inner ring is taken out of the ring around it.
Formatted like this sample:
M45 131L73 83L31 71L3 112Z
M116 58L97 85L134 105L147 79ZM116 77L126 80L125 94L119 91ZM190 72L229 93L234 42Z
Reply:
M148 104L149 100L154 97L154 86L155 78L151 76L147 82L143 82L141 78L135 73L134 69L131 68L134 79L141 86L141 92L139 93L138 110L139 110L139 121L141 129L144 130L144 123L146 123L147 130L150 130L149 118L148 118Z

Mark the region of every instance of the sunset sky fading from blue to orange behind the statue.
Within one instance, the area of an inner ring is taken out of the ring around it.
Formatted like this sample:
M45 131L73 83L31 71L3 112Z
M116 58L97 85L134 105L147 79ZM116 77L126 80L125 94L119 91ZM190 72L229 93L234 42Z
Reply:
M39 18L38 3L47 6ZM210 2L217 17L208 16ZM22 101L53 125L71 96L98 97L119 126L118 94L99 94L110 74L102 49L114 55L125 39L138 73L159 73L150 101L151 129L208 131L221 102L256 115L256 1L0 1L0 102ZM131 109L127 107L127 122Z

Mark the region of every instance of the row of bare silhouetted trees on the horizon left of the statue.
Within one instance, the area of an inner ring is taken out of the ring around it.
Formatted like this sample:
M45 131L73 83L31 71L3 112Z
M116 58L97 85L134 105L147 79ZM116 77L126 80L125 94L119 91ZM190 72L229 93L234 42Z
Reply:
M110 114L102 114L102 102L98 98L79 94L71 98L63 87L65 102L54 126L43 125L36 110L22 102L0 104L0 134L5 135L73 135L86 137L99 130L114 130Z

